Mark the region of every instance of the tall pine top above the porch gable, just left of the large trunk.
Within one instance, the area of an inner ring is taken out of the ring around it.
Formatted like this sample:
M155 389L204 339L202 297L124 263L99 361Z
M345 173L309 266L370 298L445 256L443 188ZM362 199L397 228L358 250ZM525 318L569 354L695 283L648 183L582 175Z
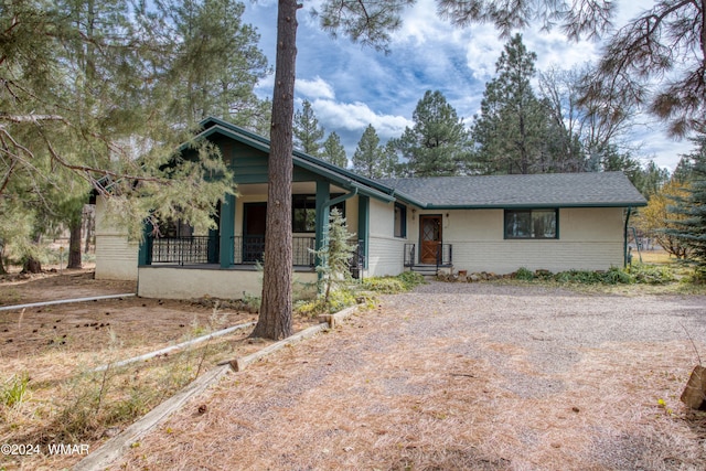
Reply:
M170 97L175 121L193 128L207 116L246 128L258 127L259 101L253 88L269 73L258 49L259 35L240 18L245 4L236 0L157 0L163 13L163 38L178 38L167 56ZM264 116L268 118L268 116Z

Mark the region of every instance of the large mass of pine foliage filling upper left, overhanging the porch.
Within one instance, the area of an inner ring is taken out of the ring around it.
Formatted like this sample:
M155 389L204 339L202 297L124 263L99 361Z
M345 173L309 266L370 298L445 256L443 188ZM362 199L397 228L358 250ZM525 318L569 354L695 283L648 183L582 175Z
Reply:
M193 144L201 161L173 152L205 115L237 121L243 111L249 122L261 111L252 86L267 67L240 14L232 0L149 9L129 0L4 1L0 225L30 206L28 215L60 217L64 199L93 188L132 235L148 215L212 227L216 203L234 191L228 169L206 143Z

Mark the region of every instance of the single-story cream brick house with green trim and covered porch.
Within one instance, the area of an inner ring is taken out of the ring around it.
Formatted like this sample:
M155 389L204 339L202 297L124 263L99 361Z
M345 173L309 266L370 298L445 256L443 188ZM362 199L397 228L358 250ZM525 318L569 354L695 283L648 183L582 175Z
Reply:
M138 295L159 298L259 295L269 141L208 118L196 137L220 146L237 196L220 205L217 229L183 224L146 231L141 244L101 217L96 204L96 278L137 279ZM404 270L606 270L627 257L630 212L644 197L621 172L372 180L293 152L295 275L314 281L310 249L339 207L355 234L354 275Z

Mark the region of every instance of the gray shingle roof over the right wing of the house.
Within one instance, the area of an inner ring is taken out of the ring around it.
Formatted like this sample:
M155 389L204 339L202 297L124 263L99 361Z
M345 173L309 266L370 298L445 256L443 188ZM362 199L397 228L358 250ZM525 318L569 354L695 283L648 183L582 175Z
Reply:
M622 172L381 179L426 207L644 206Z

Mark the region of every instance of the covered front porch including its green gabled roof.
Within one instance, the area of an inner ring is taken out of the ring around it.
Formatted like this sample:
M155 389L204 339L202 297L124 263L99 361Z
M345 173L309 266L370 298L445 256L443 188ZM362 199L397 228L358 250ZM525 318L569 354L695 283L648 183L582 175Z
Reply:
M258 296L257 266L265 254L268 205L269 142L218 119L204 122L200 135L221 149L233 171L237 194L224 195L214 217L215 228L196 234L179 223L173 228L146 225L138 255L141 296L190 298L204 295L238 298ZM189 149L184 152L189 158ZM194 156L193 158L197 158ZM359 247L352 260L354 276L366 269L371 197L394 197L344 169L295 151L291 189L292 265L296 276L317 280L317 250L327 244L330 212L339 208ZM181 281L185 279L186 281ZM153 287L149 288L148 287ZM150 295L148 295L148 290ZM179 291L179 292L176 292ZM162 295L172 292L172 296Z

